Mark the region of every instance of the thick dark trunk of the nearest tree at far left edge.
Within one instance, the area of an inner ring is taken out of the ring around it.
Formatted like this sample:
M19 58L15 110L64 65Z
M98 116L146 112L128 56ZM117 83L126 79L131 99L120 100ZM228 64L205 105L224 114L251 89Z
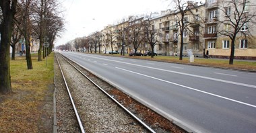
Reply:
M0 93L11 93L9 48L17 0L0 1Z

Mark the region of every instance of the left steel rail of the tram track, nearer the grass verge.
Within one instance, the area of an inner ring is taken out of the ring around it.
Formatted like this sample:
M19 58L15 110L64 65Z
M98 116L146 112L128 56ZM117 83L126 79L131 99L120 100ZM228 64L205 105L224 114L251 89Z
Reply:
M69 94L69 99L70 99L70 101L71 101L71 103L72 103L72 106L73 106L73 109L74 109L74 112L75 112L75 116L76 116L77 122L78 122L78 124L79 124L80 131L81 131L82 133L85 133L85 131L84 131L84 126L83 126L83 124L82 124L82 122L81 122L81 120L80 120L80 118L79 118L79 114L78 114L77 109L76 109L76 107L75 107L75 103L73 102L73 98L72 98L71 93L70 93L70 91L69 91L69 87L68 87L68 85L67 85L67 81L66 81L65 76L64 76L64 74L63 74L63 71L62 71L62 69L61 69L61 64L59 63L59 59L58 59L58 57L57 57L57 54L55 54L55 56L56 56L57 62L58 62L58 64L59 64L59 69L61 70L61 75L62 75L63 80L64 80L64 82L65 82L65 86L66 86L66 88L67 88L67 93ZM65 59L65 58L64 58L64 59Z

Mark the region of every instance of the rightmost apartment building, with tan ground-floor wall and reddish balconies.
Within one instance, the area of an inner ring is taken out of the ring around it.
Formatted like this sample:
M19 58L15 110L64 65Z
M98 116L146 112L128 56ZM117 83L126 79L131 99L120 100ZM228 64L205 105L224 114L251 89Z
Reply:
M234 58L256 59L256 27L254 19L246 19L249 15L255 16L256 1L237 0L207 0L205 1L205 51L214 58L229 58L231 52L231 39L234 27L241 27L236 34L234 43ZM241 14L241 17L238 16ZM240 20L237 24L237 20ZM248 21L249 20L249 21ZM247 21L244 23L243 21Z

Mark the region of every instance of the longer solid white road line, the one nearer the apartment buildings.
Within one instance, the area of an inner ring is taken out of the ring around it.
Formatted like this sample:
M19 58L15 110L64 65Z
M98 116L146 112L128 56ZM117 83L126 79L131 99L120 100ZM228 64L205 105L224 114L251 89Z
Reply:
M88 56L88 55L85 55L85 56ZM89 56L89 57L98 58L98 57L95 57L95 56ZM98 58L98 59L108 60L108 59L104 59L104 58ZM158 68L154 68L154 67L143 66L143 65L140 65L140 64L132 64L132 63L129 63L129 62L121 62L121 61L117 61L117 60L108 60L108 61L119 62L119 63L123 63L123 64L129 64L129 65L133 65L133 66L137 66L137 67L144 67L144 68L147 68L147 69L154 69L154 70L158 70L158 71L166 71L166 72L169 72L169 73L176 73L176 74L179 74L179 75L187 75L187 76L197 77L197 78L201 78L201 79L208 79L208 80L212 80L212 81L219 81L219 82L223 82L223 83L230 83L230 84L233 84L233 85L241 85L241 86L244 86L244 87L256 88L256 85L249 85L249 84L238 83L238 82L234 82L234 81L226 81L226 80L222 80L222 79L216 79L216 78L205 77L205 76L200 76L200 75L193 75L193 74L182 73L182 72L177 72L177 71L169 71L169 70L166 70L166 69L158 69Z

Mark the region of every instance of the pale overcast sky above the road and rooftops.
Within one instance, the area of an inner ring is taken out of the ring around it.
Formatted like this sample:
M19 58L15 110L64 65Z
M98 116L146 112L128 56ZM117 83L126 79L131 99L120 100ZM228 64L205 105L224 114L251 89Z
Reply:
M168 9L166 0L59 0L65 9L65 29L55 46L77 37L88 36L128 15Z

